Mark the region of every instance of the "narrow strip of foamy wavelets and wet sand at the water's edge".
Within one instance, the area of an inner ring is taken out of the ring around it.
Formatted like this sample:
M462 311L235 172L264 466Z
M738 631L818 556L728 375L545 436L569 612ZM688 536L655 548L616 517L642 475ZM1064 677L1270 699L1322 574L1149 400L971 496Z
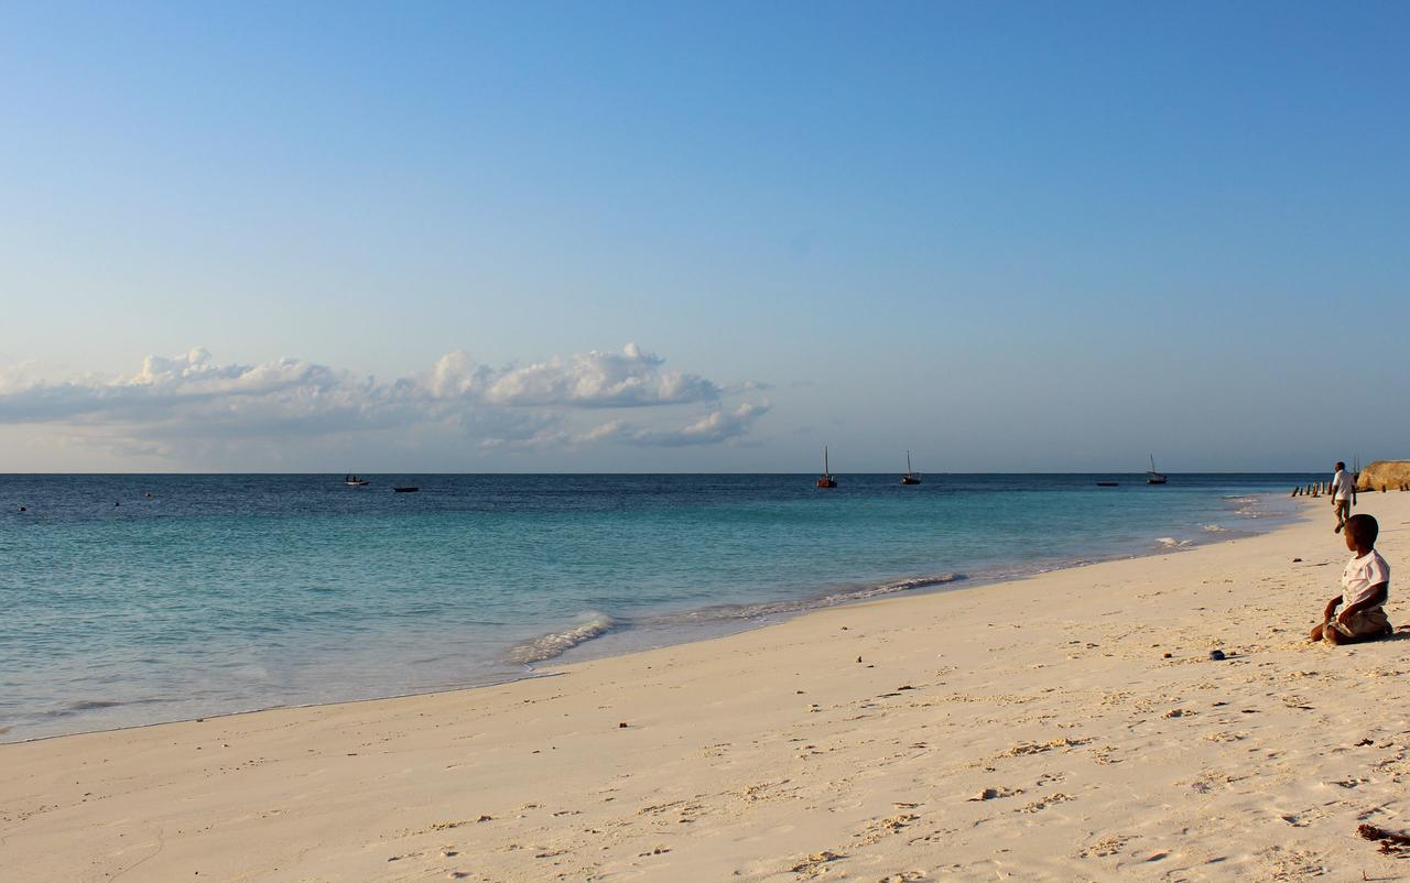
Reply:
M1280 500L1283 494L1272 491L1256 491L1249 494L1239 494L1238 497L1225 497L1225 500L1242 500L1245 497L1256 499L1259 504L1273 508L1272 501ZM197 720L199 721L219 720L234 715L259 714L262 711L317 708L323 706L344 706L344 704L378 701L378 700L409 699L417 696L439 696L444 693L457 693L462 690L479 690L485 687L496 687L496 686L516 683L520 680L532 680L536 677L557 675L561 672L556 672L553 669L561 669L564 666L580 665L584 662L612 659L618 656L627 656L633 653L666 649L671 646L682 646L688 644L718 641L722 638L729 638L732 635L767 630L776 625L783 625L785 622L794 621L799 617L812 615L823 610L846 608L857 604L866 604L874 600L888 600L894 597L922 597L928 594L949 593L967 589L986 589L1004 583L1017 583L1021 580L1038 577L1048 573L1081 569L1091 565L1152 558L1152 556L1169 555L1172 552L1187 552L1210 544L1231 542L1237 539L1246 539L1252 537L1265 535L1279 530L1285 524L1293 524L1300 518L1300 513L1296 506L1289 510L1280 510L1280 511L1275 510L1270 515L1238 514L1238 510L1231 511L1230 514L1231 515L1237 514L1239 518L1242 518L1245 524L1249 521L1256 521L1259 527L1253 528L1252 525L1246 525L1241 528L1224 528L1220 531L1207 531L1203 535L1196 534L1190 539L1183 539L1170 545L1160 545L1163 544L1165 539L1169 538L1156 538L1156 545L1148 546L1144 551L1132 551L1132 548L1129 546L1122 549L1118 546L1115 551L1111 551L1110 553L1097 553L1080 559L1034 562L1028 568L1004 566L997 570L995 569L980 570L979 573L973 575L945 573L933 576L887 576L877 579L874 582L839 583L821 589L818 594L797 597L797 599L725 604L721 607L692 607L680 611L651 614L647 617L633 617L623 620L616 620L609 614L594 614L612 620L613 625L603 631L599 631L598 634L592 634L585 639L575 641L565 649L554 652L543 659L515 659L515 653L525 649L530 644L539 644L541 641L554 641L567 632L577 631L578 628L581 628L581 625L571 625L556 632L547 632L544 635L536 637L530 642L513 646L505 646L502 648L501 658L508 663L525 666L525 670L491 675L485 680L465 680L454 684L412 687L405 691L376 694L376 696L351 696L345 699L316 700L306 703L259 704L248 708L235 708L227 711L217 710L217 711L203 713L199 715L173 717L168 720L123 724L116 727L99 727L93 729L76 729L72 732L42 734L13 741L7 741L6 739L7 734L4 731L0 731L0 746L23 745L44 739L58 739L58 738L78 737L78 735L123 732L131 729L141 729L145 727L161 727L168 724L190 722ZM1225 537L1224 534L1234 534L1234 537ZM902 586L905 583L918 583L918 584L914 587ZM756 610L759 613L754 613ZM701 614L709 614L709 615L701 617ZM623 622L625 628L618 628L616 622ZM633 642L630 637L637 634L637 630L643 630L646 634L651 637L647 638L646 641L637 639ZM618 646L623 642L625 646Z

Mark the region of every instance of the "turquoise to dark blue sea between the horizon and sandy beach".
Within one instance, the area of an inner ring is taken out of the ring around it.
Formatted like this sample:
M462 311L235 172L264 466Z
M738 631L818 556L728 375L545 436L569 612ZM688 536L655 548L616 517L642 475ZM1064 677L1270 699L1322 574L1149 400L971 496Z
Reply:
M1323 476L368 477L0 475L0 741L491 683L1179 549Z

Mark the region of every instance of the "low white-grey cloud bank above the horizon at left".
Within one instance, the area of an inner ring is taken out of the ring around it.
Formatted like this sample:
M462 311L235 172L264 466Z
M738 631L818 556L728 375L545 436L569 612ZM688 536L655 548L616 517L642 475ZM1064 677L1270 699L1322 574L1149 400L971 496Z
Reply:
M0 427L166 465L274 452L286 461L350 438L395 439L407 451L678 448L744 442L770 403L725 399L763 389L666 368L636 344L503 368L451 352L389 382L295 358L220 363L197 346L147 356L140 372L117 377L47 380L0 368Z

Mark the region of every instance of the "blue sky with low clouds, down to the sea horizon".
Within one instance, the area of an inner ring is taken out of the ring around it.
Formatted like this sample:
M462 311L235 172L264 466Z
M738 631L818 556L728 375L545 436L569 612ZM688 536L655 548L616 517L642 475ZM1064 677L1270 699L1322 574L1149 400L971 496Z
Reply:
M0 0L0 472L1410 458L1407 34Z

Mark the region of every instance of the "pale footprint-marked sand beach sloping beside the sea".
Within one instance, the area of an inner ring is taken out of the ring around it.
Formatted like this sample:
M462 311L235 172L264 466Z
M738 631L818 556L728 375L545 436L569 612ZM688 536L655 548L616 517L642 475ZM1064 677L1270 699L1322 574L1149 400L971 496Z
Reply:
M1410 573L1410 494L1361 501ZM0 880L1404 879L1356 827L1410 827L1410 632L1307 645L1347 551L1306 506L501 687L0 746Z

